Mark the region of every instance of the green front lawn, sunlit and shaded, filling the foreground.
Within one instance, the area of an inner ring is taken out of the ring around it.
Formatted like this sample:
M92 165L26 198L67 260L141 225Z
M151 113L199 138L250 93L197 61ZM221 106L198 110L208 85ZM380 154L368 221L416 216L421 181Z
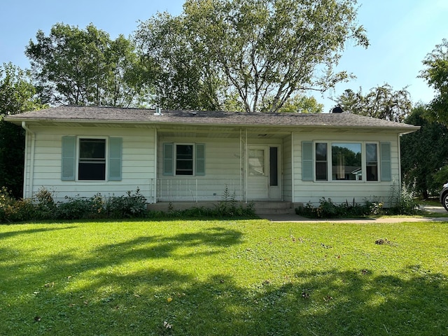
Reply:
M0 225L0 335L447 335L447 280L448 223Z

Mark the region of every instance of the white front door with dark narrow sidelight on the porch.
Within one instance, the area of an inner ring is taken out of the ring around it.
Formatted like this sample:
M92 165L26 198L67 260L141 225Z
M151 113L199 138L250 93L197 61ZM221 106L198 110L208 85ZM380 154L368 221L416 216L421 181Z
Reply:
M279 147L248 147L248 200L280 200Z

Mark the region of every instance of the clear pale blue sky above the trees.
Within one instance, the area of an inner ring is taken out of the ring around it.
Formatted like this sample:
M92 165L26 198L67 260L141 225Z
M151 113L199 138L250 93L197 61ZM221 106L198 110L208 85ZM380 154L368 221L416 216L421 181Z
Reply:
M25 46L38 29L48 34L52 25L63 22L85 28L90 22L116 38L130 36L138 21L168 11L179 15L183 0L3 0L0 12L0 64L13 62L29 67ZM421 61L442 38L448 38L447 0L358 0L358 21L367 30L370 47L347 45L337 69L353 73L356 79L340 83L335 90L314 97L330 110L344 90L368 92L388 83L394 90L408 86L413 102L429 102L433 90L416 78Z

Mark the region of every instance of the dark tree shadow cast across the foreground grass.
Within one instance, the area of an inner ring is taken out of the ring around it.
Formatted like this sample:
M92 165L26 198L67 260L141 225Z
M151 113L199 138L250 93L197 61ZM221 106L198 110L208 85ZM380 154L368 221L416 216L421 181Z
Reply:
M179 246L194 250L205 245L211 253L219 253L240 241L241 232L237 230L212 228L107 244L90 258L80 259L70 253L54 255L42 267L26 271L22 269L24 260L14 274L0 262L0 279L6 281L0 295L3 302L7 298L7 304L0 308L0 335L448 332L447 278L431 274L421 265L405 267L400 277L379 274L375 269L295 269L284 276L284 281L247 281L245 286L230 274L211 273L203 279L194 272L170 269L168 263L166 267L148 266L137 272L113 268L148 259L166 258L168 262ZM1 252L11 253L7 250ZM197 256L186 253L179 262L190 262ZM90 273L94 275L89 278ZM58 276L59 283L45 283Z

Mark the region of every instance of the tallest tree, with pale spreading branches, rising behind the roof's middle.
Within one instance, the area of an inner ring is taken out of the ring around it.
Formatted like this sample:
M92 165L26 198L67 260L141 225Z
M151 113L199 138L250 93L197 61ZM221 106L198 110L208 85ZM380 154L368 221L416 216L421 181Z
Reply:
M356 9L356 0L187 0L179 17L142 22L136 40L148 58L154 50L171 50L163 52L160 78L179 75L193 92L207 87L202 97L212 105L225 106L236 94L246 112L268 105L277 112L294 94L323 92L349 78L334 66L347 41L368 45ZM169 34L154 40L160 27ZM153 48L154 42L162 45ZM155 62L161 63L158 57ZM184 69L195 72L191 83Z

